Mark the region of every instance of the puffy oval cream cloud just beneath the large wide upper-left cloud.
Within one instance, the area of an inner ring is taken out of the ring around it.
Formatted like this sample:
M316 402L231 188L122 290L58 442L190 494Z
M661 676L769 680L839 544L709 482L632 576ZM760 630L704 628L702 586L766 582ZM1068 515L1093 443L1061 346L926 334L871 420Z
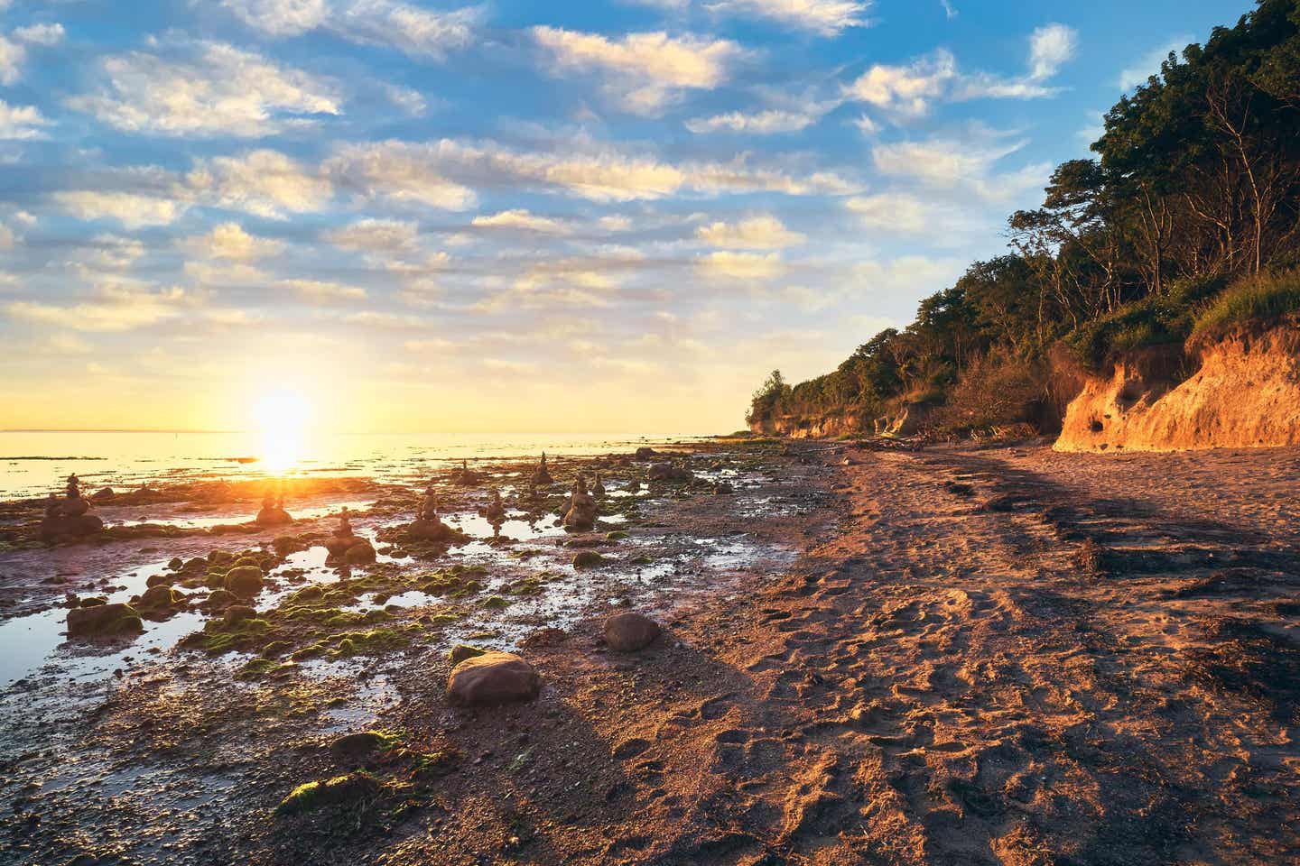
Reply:
M266 149L202 160L186 182L214 206L266 218L320 210L333 196L329 178Z

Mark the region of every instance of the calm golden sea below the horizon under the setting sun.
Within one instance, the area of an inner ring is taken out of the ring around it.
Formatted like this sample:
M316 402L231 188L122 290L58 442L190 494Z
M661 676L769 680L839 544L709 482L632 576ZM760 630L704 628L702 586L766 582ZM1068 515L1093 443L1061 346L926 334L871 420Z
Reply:
M602 454L689 439L684 434L313 435L286 447L259 434L0 432L0 499L46 496L75 473L83 489L268 475L408 479L424 467L478 457ZM266 457L273 454L273 457ZM240 462L252 460L254 462Z

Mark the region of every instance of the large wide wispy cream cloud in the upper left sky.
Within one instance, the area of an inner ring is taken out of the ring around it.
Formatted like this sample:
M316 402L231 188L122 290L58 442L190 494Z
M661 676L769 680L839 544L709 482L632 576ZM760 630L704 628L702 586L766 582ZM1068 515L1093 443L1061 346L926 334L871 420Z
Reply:
M68 100L126 132L260 138L342 113L334 86L298 69L216 42L182 42L168 53L129 52L99 61L98 92Z

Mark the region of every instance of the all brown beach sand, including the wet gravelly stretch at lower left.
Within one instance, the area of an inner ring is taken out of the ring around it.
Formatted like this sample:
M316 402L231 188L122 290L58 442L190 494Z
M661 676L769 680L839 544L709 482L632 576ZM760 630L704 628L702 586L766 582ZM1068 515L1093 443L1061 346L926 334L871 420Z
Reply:
M32 675L0 708L40 726L0 744L0 832L22 863L1300 858L1300 452L846 453L656 491L618 545L663 571L575 574L599 588L563 617L474 613L542 674L534 704L448 706L437 630L281 680L168 650L84 704ZM664 637L603 647L624 605ZM330 748L364 730L386 745ZM274 814L358 767L358 796Z

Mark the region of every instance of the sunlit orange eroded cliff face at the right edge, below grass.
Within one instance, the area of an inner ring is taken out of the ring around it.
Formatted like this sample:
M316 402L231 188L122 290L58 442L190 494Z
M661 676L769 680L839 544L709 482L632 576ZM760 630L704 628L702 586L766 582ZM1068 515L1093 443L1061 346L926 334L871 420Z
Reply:
M1190 451L1300 444L1300 319L1243 327L1170 358L1123 358L1066 409L1057 451Z

